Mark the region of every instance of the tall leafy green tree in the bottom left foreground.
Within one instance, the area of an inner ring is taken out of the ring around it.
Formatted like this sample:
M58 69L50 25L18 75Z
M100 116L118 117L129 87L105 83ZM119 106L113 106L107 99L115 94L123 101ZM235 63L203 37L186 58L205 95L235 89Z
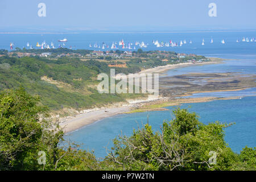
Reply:
M48 115L39 101L23 88L0 93L0 169L40 169L39 151L47 153L50 168L56 163L63 131L40 119Z

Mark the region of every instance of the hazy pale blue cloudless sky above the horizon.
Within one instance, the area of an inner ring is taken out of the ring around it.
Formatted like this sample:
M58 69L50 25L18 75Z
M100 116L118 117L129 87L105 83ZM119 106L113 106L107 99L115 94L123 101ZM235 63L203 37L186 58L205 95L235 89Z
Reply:
M46 16L38 16L39 3ZM255 7L255 0L1 0L0 32L256 30Z

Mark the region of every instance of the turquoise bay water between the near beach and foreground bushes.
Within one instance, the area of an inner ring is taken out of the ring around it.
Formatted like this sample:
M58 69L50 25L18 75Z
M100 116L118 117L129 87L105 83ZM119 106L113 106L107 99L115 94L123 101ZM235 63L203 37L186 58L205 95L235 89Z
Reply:
M225 129L225 140L235 152L240 152L243 147L256 146L256 97L244 97L238 100L218 100L194 104L183 104L182 108L188 108L200 115L200 121L209 123L214 121L236 122L236 125ZM131 135L133 129L138 129L142 123L149 123L154 131L160 129L163 121L170 121L173 106L166 107L170 111L150 111L144 113L120 114L112 118L102 119L92 125L83 127L65 138L69 138L82 144L82 148L94 150L94 154L100 158L106 155L104 147L112 146L112 139L119 134Z

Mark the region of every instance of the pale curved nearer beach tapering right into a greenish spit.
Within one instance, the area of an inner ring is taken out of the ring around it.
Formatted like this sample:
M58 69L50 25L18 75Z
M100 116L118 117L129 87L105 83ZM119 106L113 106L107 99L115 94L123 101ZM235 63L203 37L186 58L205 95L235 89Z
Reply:
M226 91L236 91L236 89L226 90ZM152 101L144 101L148 103L148 105L147 104L141 105L138 107L138 109L133 109L134 105L129 105L129 106L93 110L93 111L90 111L89 113L76 115L72 119L68 119L68 121L60 123L60 126L63 128L64 133L67 134L67 133L71 133L73 131L79 130L82 127L96 123L101 119L113 117L118 114L131 114L131 113L139 113L139 112L145 112L145 111L163 111L163 110L167 110L164 107L168 107L168 106L178 106L180 104L187 104L187 103L210 102L215 100L235 100L235 99L241 99L243 97L247 97L247 96L198 97L198 98L183 97L183 98L178 98L174 100L170 98L159 98L158 103L156 104L152 104ZM143 104L143 102L139 102L139 104Z

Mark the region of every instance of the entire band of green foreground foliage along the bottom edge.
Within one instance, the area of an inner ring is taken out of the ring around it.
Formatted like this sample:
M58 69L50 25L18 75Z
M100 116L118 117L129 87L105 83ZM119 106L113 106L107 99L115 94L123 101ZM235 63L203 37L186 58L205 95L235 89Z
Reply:
M58 123L47 119L39 98L22 88L0 94L0 170L256 170L256 147L235 154L224 141L228 125L204 125L186 109L154 133L146 124L131 137L119 136L104 160L63 142ZM38 164L38 152L46 164ZM216 164L211 164L216 154Z

